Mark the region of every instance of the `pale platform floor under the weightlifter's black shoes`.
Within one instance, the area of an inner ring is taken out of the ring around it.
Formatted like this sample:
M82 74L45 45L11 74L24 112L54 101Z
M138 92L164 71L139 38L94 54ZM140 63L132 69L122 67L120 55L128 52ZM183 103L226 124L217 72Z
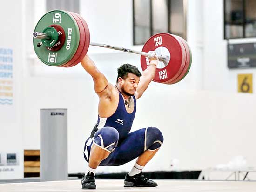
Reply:
M156 180L157 187L123 187L123 179L97 179L99 192L255 192L256 182ZM85 192L80 180L0 184L0 192Z

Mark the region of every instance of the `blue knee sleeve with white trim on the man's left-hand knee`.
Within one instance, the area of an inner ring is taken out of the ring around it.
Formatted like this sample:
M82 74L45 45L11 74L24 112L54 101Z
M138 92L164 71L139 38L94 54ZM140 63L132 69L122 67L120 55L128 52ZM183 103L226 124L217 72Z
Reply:
M94 134L94 144L108 152L115 149L118 139L119 133L113 127L103 127Z

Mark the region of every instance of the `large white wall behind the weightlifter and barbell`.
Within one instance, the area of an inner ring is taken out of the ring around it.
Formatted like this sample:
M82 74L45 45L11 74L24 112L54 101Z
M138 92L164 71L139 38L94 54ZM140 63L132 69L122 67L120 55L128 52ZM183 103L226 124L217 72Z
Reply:
M28 5L28 10L34 6L36 11L27 13L34 19L26 24L27 35L33 32L31 23L35 25L42 16L43 3ZM171 170L172 159L179 159L176 169L202 169L239 154L254 166L255 98L236 94L237 73L251 70L227 69L222 6L222 0L188 1L187 37L193 53L189 74L172 86L153 82L138 102L132 130L157 126L165 138L145 171ZM141 46L132 46L132 0L81 1L80 14L88 23L92 41L141 50ZM26 40L23 146L40 149L40 108L67 108L68 171L85 172L83 145L97 118L93 81L80 65L67 69L43 65L33 53L30 36ZM92 46L88 54L113 84L122 63L140 67L138 55ZM98 171L128 171L132 164Z

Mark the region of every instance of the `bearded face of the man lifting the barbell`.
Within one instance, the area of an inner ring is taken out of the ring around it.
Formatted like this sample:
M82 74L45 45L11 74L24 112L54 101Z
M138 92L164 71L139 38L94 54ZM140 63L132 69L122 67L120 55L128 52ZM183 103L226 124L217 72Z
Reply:
M133 73L128 73L126 79L121 79L121 91L128 96L134 95L137 91L139 81L140 77Z

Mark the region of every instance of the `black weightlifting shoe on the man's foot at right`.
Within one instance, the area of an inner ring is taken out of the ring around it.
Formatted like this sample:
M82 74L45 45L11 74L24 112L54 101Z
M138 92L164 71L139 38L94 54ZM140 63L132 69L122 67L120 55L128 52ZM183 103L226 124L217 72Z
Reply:
M124 179L124 187L156 187L155 181L147 179L142 172L137 175L129 176L128 173Z

